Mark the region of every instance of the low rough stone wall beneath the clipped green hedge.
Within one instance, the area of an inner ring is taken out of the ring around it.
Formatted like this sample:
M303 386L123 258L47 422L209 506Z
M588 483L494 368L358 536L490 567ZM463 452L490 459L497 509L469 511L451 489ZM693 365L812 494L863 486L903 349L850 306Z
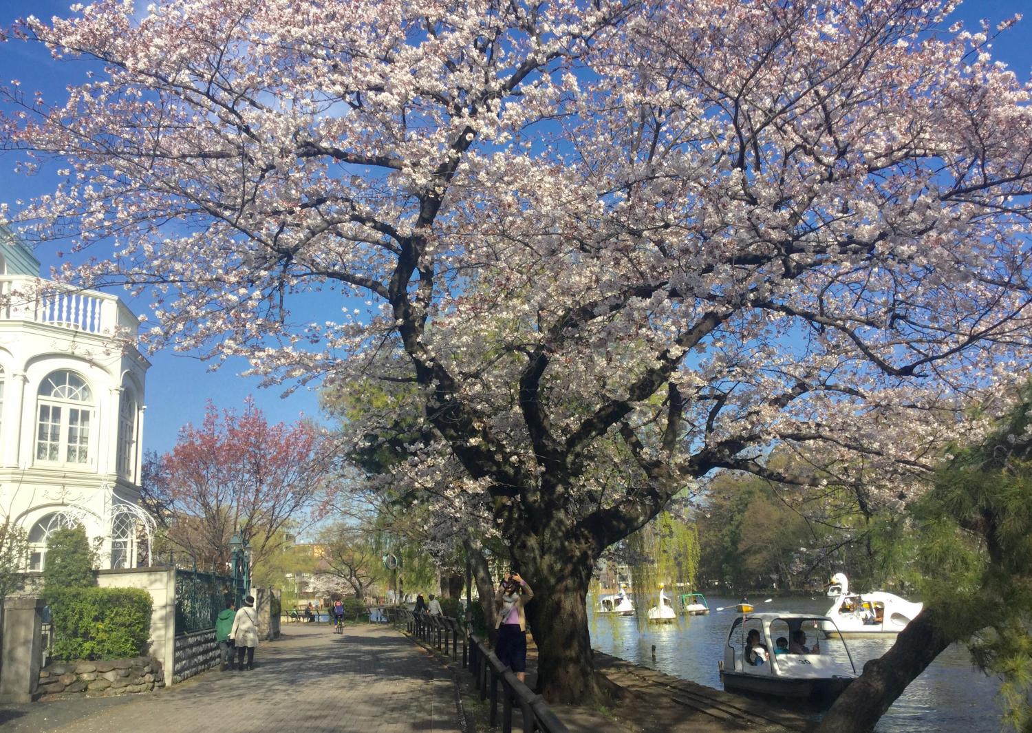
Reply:
M161 662L153 657L104 662L55 662L39 671L39 686L34 697L39 700L109 697L149 693L163 687Z

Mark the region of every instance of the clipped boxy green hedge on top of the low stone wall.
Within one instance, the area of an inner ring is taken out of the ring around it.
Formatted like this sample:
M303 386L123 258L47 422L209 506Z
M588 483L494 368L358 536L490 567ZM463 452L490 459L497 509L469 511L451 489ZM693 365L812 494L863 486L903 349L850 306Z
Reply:
M51 598L52 655L59 660L114 660L147 654L151 594L127 587L68 588Z

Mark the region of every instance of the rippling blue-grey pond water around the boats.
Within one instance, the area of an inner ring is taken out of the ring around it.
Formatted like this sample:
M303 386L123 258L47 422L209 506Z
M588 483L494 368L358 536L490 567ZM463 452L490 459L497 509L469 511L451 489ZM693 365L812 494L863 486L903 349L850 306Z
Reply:
M594 608L588 597L588 607ZM734 606L738 600L709 598L710 608ZM756 601L753 600L753 603ZM654 603L654 602L653 602ZM824 614L831 601L823 596L776 598L757 604L757 612ZM589 616L591 644L600 651L684 679L722 689L717 662L723 659L733 610L706 616L680 616L678 624L638 628L634 617ZM870 659L881 657L893 645L892 637L847 639L859 673ZM829 639L832 654L841 654L841 641ZM655 658L652 645L655 645ZM838 647L838 648L836 648ZM1000 730L1000 707L996 700L999 682L971 666L971 657L954 645L907 688L879 721L876 733L996 733Z

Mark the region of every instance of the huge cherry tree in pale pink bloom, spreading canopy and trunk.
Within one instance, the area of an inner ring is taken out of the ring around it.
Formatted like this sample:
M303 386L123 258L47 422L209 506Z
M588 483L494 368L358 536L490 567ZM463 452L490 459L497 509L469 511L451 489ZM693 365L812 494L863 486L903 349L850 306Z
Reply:
M415 387L399 466L487 515L581 700L595 560L672 496L792 482L780 441L897 501L1004 409L1029 87L953 6L98 0L14 29L97 69L3 92L0 141L64 177L13 220L102 244L64 275L153 293L154 347Z

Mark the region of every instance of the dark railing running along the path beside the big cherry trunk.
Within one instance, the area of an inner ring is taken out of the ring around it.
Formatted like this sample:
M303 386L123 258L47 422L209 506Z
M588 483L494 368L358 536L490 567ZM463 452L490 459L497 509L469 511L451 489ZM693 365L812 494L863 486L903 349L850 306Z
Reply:
M512 733L513 709L516 706L523 719L523 733L569 733L545 699L521 682L483 639L472 634L458 620L414 613L405 608L391 609L388 615L395 626L404 625L406 631L417 639L452 658L458 656L459 641L462 642L462 667L473 674L480 699L488 701L492 728L498 727L501 713L502 733Z

